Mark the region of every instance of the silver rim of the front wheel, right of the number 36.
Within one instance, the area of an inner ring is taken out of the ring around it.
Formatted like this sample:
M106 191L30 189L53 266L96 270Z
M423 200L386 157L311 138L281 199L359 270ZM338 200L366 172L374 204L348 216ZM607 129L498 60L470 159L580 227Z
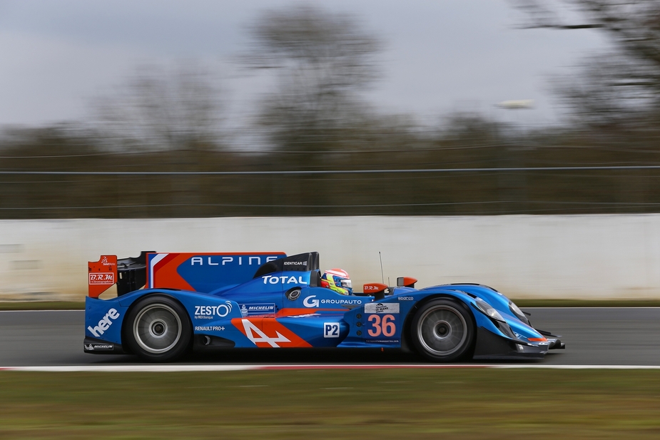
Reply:
M448 356L467 339L467 322L454 307L438 305L428 309L417 324L417 339L430 354Z

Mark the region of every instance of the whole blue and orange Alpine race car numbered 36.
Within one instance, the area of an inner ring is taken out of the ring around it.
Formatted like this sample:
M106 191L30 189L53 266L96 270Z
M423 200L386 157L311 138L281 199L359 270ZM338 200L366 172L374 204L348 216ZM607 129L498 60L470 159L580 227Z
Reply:
M455 362L564 348L484 285L415 289L417 280L400 277L397 287L341 295L322 286L318 252L105 255L88 272L87 353L166 362L191 349L365 347ZM115 284L117 297L102 300Z

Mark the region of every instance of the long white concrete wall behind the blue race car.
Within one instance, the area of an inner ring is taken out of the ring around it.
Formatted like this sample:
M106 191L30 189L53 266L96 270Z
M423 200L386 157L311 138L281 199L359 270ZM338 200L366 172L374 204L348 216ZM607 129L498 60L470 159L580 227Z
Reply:
M81 300L101 254L320 252L357 290L479 282L514 298L660 299L660 215L1 220L0 300Z

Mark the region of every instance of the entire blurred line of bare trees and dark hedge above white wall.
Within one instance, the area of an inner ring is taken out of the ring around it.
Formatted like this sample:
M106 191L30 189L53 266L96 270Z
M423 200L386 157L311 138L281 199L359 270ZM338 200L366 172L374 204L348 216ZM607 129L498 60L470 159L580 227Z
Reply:
M295 171L660 165L660 6L569 1L584 24L523 2L529 26L599 29L616 53L557 81L564 126L522 130L477 114L420 128L362 97L382 42L311 6L250 28L245 66L275 89L239 150L222 91L199 66L142 71L98 103L93 125L6 130L0 171ZM559 5L561 7L561 5ZM635 9L636 8L636 9ZM621 17L624 17L623 19ZM660 170L323 175L0 175L0 218L487 215L660 212Z

